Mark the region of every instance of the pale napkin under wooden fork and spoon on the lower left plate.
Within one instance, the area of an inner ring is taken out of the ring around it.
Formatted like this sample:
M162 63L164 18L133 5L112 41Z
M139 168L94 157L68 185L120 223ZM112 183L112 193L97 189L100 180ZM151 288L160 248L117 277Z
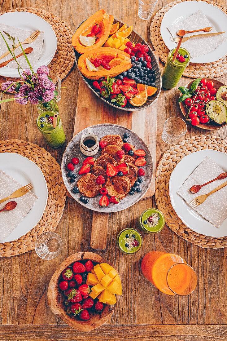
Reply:
M18 188L23 187L15 179L11 178L8 174L0 169L0 199L3 199ZM4 240L13 232L17 225L25 218L27 213L33 207L37 200L37 196L29 191L25 195L19 198L8 199L4 203L0 204L0 210L10 201L16 201L17 206L12 211L0 212L0 242Z

